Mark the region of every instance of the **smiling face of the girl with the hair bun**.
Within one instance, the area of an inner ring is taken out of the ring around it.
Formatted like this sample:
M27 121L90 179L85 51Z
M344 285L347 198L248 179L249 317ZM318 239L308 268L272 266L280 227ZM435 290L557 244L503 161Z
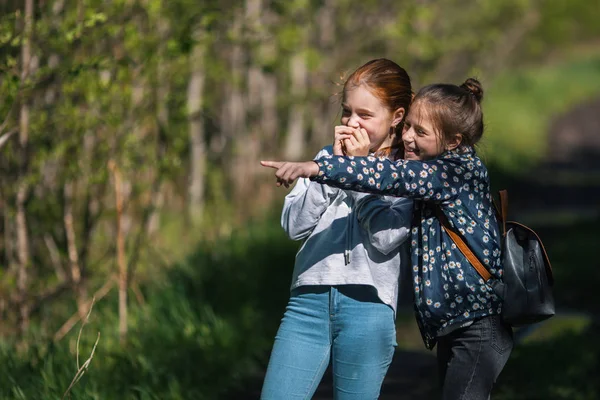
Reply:
M421 102L413 103L404 121L402 142L406 160L430 160L444 151L440 133L428 114L423 112L424 107Z

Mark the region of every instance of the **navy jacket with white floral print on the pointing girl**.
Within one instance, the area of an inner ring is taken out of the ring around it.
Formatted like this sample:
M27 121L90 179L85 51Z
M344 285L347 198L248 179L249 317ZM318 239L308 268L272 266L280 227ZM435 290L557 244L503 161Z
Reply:
M413 289L427 348L476 318L501 313L501 299L443 231L435 212L440 207L492 276L501 278L500 232L488 172L474 149L448 151L429 161L325 156L316 162L317 182L415 200Z

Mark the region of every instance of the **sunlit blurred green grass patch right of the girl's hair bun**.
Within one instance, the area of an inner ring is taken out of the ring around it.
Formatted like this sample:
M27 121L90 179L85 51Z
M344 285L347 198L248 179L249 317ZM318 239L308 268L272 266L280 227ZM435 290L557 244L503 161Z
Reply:
M518 172L547 149L553 120L574 105L600 96L600 54L547 66L510 70L486 90L486 132L480 152L490 164Z

